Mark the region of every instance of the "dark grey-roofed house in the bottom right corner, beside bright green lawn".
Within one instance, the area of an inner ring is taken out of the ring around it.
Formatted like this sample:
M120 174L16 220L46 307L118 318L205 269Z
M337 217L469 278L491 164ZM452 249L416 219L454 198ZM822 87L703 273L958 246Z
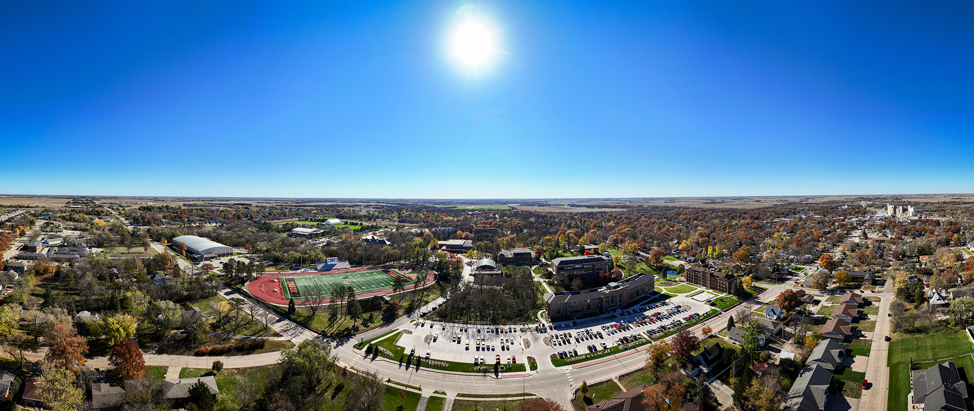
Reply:
M922 404L924 411L968 409L967 382L960 378L954 362L933 364L930 368L912 371L911 374L914 404Z

